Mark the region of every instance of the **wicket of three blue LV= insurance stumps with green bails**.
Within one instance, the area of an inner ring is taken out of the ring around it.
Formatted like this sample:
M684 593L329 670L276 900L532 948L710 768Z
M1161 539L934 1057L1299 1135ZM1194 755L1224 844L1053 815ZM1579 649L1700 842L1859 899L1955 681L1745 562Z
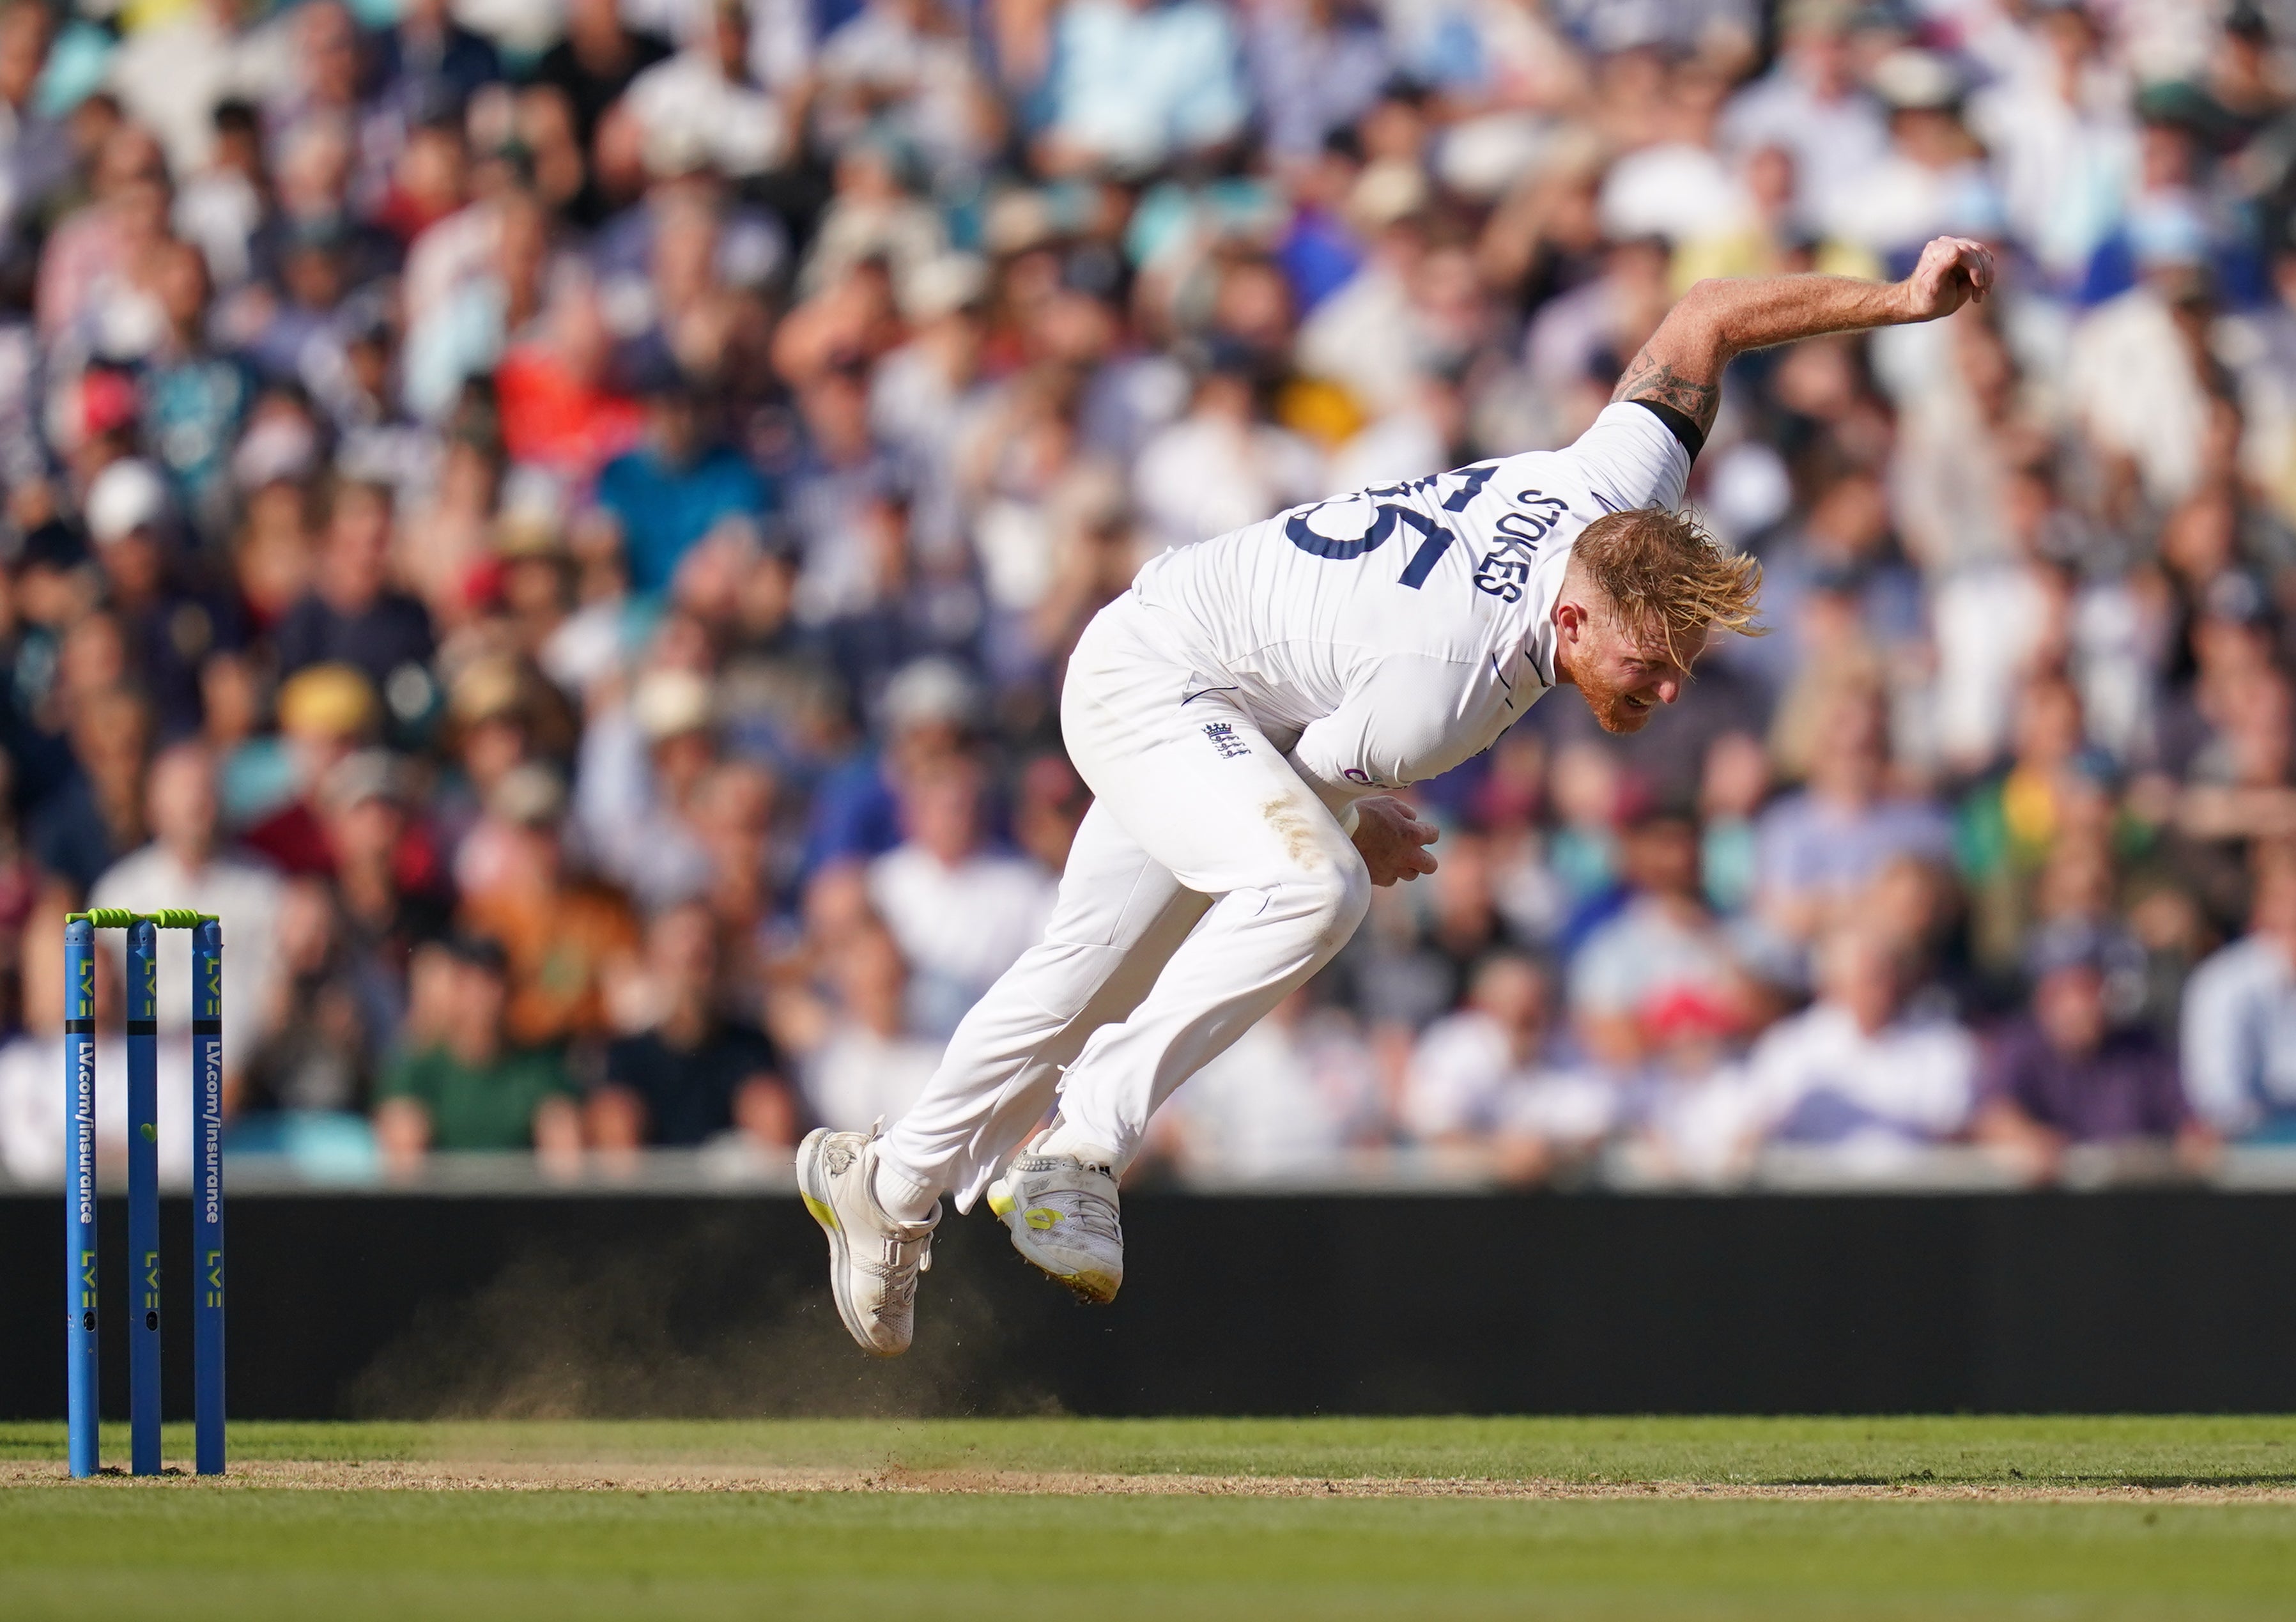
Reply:
M99 907L64 921L64 1388L71 1473L96 1445L96 930L129 933L129 1468L158 1475L158 930L191 930L193 1422L200 1475L223 1473L223 926L200 912Z

